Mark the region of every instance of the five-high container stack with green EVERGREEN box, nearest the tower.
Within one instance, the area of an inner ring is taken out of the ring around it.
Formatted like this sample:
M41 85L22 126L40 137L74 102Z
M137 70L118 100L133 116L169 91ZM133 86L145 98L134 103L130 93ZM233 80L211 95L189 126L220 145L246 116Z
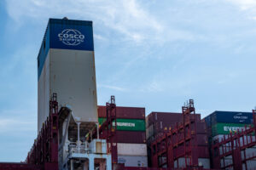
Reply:
M105 122L106 106L98 106L98 117L100 125ZM113 138L118 143L118 163L125 167L148 167L145 108L117 106L116 118L117 132Z

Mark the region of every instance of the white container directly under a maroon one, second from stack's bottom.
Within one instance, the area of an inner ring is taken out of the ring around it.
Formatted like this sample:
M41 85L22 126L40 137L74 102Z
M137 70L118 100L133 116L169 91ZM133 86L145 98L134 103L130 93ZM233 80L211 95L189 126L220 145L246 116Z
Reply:
M147 144L117 144L119 156L147 156Z

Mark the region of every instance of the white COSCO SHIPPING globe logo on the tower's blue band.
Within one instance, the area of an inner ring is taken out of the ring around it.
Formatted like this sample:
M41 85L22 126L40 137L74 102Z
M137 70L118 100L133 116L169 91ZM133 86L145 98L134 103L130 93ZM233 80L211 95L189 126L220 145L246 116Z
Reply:
M77 46L84 42L84 35L74 29L66 29L58 34L59 40L66 45Z

